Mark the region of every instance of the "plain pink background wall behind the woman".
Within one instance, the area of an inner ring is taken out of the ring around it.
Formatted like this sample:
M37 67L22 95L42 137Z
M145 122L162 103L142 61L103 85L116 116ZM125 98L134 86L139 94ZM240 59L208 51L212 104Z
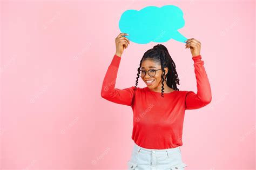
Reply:
M100 96L127 9L177 5L179 31L201 42L212 101L187 110L186 169L255 168L254 1L2 1L1 169L125 169L132 110ZM131 42L116 88L136 83L144 52ZM189 49L163 43L180 90L197 92ZM139 80L139 87L146 85Z

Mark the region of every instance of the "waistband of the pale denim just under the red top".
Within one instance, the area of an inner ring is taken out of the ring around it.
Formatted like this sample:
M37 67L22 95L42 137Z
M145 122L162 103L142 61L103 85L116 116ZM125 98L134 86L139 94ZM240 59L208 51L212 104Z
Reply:
M133 150L138 153L145 153L145 154L153 153L153 154L157 154L157 155L164 155L164 154L169 155L174 152L181 152L179 146L174 147L174 148L168 148L168 149L148 149L148 148L141 147L141 146L137 145L136 143L134 143Z

